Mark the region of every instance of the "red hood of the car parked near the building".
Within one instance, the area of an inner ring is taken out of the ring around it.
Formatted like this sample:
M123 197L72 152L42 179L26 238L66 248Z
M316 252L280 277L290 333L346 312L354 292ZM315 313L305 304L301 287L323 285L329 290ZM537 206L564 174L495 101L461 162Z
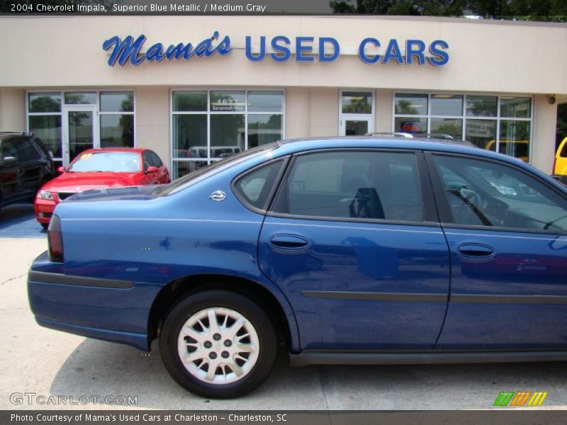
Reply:
M57 179L45 183L43 190L51 192L83 192L90 189L111 188L116 186L134 186L137 173L63 173Z

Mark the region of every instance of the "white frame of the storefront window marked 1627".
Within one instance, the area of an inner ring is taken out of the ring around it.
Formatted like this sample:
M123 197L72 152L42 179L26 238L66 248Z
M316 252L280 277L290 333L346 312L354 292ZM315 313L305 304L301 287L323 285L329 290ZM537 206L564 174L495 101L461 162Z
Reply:
M207 96L207 103L206 103L206 111L174 111L173 110L173 94L175 91L204 91L206 92ZM210 92L211 91L244 91L245 92L245 110L244 111L210 111ZM249 91L281 91L283 96L281 102L281 111L279 112L255 112L255 111L248 111L248 92ZM169 89L169 152L171 152L169 156L169 169L172 172L172 175L175 175L175 163L176 162L206 162L207 165L212 164L213 162L218 162L220 159L223 158L212 158L210 157L210 115L245 115L245 148L242 152L247 151L250 149L248 147L248 114L252 115L266 115L266 114L279 114L281 115L281 139L285 140L286 138L286 89L283 87L270 87L266 89L266 87L215 87L215 86L198 86L198 87L176 87L174 89ZM174 115L206 115L206 123L207 123L207 157L206 158L178 158L174 155L174 131L173 131L173 118ZM179 176L176 176L179 178Z

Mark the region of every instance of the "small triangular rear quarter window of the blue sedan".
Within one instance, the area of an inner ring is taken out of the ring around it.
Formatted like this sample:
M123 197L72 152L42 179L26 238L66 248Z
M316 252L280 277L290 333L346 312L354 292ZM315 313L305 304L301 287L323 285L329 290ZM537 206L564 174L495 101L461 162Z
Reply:
M233 188L238 198L249 206L264 210L282 165L283 160L271 162L237 179Z

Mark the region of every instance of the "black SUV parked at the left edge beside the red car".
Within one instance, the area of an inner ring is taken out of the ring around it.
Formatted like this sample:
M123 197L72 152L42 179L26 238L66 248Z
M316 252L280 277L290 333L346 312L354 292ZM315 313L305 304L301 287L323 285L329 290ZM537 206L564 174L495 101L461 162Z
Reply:
M39 137L0 132L0 209L33 200L39 188L54 176L50 152Z

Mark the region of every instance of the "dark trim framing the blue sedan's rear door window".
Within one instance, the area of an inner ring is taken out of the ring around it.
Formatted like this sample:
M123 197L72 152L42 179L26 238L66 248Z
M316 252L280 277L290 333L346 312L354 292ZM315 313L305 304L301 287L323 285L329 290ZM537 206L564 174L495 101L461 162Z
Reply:
M420 194L423 207L423 221L413 222L405 220L387 220L379 218L359 218L359 217L325 217L318 215L294 215L283 212L274 212L274 201L280 195L281 191L285 190L283 181L289 176L293 169L293 165L298 157L308 154L322 154L327 152L391 152L391 153L410 153L415 157L415 165L417 167L417 182L420 185ZM339 148L325 148L325 149L310 149L303 152L296 152L291 155L291 159L286 165L286 171L281 176L279 186L276 193L270 200L269 207L266 212L266 217L276 217L288 220L318 220L328 222L354 222L354 223L368 223L373 225L403 225L403 226L417 226L417 227L441 227L439 215L437 213L437 206L434 200L434 191L427 171L427 165L423 157L423 151L419 149L404 149L404 148L370 148L370 147L339 147ZM435 221L431 221L435 217Z

